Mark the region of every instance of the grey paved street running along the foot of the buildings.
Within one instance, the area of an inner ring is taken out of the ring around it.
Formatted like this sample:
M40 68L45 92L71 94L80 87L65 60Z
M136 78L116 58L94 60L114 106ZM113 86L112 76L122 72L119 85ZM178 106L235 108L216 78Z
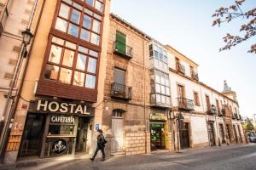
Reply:
M256 170L256 144L213 147L201 150L182 150L150 155L111 157L107 161L100 158L91 162L88 158L74 160L32 161L0 167L10 169L73 169L73 170Z

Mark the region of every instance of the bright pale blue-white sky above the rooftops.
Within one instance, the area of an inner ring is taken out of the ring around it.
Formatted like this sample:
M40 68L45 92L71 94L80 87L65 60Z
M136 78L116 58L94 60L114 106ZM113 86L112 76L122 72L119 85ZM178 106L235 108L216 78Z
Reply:
M229 7L235 0L112 0L111 12L118 14L150 37L170 44L198 65L199 78L222 91L224 80L236 91L241 116L256 114L256 54L247 50L256 37L231 50L219 52L226 33L241 35L245 19L212 27L212 14L219 7ZM242 9L255 8L247 0Z

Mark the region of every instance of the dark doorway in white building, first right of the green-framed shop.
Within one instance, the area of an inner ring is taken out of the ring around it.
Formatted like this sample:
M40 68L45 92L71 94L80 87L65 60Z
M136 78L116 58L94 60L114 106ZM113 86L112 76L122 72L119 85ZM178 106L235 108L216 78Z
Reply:
M189 122L179 122L179 135L181 149L189 148Z

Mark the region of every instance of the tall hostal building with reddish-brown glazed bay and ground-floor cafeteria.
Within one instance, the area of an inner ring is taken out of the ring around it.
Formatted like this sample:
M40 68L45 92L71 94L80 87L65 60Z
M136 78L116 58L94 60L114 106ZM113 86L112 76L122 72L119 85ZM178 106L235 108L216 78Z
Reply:
M38 0L34 42L4 162L95 150L109 7L108 0ZM63 150L56 150L58 144Z

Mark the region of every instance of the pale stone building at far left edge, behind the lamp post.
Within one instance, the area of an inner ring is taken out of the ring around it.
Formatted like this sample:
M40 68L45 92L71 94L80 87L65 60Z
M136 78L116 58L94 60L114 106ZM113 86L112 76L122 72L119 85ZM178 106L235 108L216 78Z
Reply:
M14 78L15 67L21 53L21 32L26 30L32 17L34 0L1 0L0 1L0 129L2 132L3 122L6 115L6 96L9 92L10 83ZM20 74L22 71L20 71ZM14 92L19 88L20 80L15 81ZM10 104L9 104L10 107ZM7 109L9 110L9 107Z

